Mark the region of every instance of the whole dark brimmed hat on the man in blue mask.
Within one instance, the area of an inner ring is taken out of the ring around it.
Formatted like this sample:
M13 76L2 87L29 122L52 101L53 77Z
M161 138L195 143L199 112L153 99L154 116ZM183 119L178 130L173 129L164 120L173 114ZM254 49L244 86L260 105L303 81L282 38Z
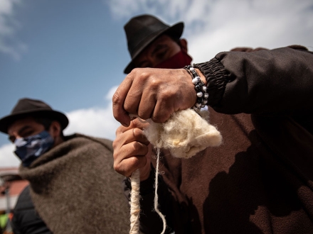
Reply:
M9 126L21 118L48 118L58 121L62 130L68 126L68 117L65 114L54 111L51 106L40 100L19 99L9 116L0 119L0 131L8 133Z

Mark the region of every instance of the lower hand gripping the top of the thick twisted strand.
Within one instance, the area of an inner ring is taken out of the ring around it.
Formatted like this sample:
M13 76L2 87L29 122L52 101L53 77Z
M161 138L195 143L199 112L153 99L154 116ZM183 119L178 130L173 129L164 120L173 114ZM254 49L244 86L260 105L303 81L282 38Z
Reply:
M129 127L117 128L113 141L114 169L125 177L130 177L138 168L140 181L149 177L152 145L142 133L142 129L148 125L135 119Z

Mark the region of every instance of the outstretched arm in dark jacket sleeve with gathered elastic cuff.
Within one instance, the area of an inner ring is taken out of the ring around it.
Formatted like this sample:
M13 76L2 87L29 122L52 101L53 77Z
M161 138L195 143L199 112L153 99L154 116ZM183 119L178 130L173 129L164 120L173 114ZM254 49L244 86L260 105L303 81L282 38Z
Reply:
M221 113L290 113L313 104L313 54L291 48L221 52L196 67Z

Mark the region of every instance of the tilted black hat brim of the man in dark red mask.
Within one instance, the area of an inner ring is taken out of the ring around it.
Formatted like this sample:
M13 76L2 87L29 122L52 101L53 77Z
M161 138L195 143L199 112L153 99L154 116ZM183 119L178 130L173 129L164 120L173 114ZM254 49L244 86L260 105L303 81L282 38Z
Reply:
M156 40L160 35L166 34L166 35L169 35L173 38L179 39L179 38L181 38L181 35L183 34L183 30L184 30L184 23L179 22L179 23L174 24L174 26L171 26L169 28L166 28L164 30L159 31L158 33L153 35L151 38L146 40L144 43L142 43L142 45L141 45L142 48L140 48L137 51L137 54L132 57L132 61L130 61L129 64L127 65L127 67L125 67L124 73L128 74L129 72L132 72L132 69L135 68L134 59L142 52L142 50L147 48L147 46L150 45L154 40Z

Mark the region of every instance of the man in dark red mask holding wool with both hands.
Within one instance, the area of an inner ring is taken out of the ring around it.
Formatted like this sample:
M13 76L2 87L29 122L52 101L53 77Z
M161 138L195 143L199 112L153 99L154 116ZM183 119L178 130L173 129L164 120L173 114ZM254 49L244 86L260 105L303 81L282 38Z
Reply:
M154 69L175 68L175 54L154 57L170 46L158 43L167 36L158 21L145 15L126 24L132 62L125 72L130 74L113 96L114 116L123 125L113 143L115 169L127 177L125 191L130 190L128 177L140 169L142 231L161 233L163 228L153 212L156 160L142 135L143 124L131 121L129 113L164 123L174 111L204 105L223 144L189 160L162 150L158 194L166 232L313 233L313 52L302 46L243 48L186 69L188 62L181 69ZM180 35L169 40L184 50ZM193 75L208 98L197 98Z

